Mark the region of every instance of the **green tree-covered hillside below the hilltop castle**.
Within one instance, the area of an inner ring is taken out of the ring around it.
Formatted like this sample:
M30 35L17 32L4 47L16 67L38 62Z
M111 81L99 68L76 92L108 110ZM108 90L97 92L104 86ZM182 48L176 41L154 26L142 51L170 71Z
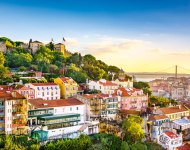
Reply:
M109 66L94 56L82 55L78 52L65 57L62 52L54 49L54 43L42 45L31 54L27 45L20 41L12 41L9 38L1 37L0 42L6 45L4 51L4 66L10 69L17 68L20 71L34 70L43 73L50 73L48 80L57 76L72 77L78 83L84 83L86 79L99 80L101 78L111 79L109 72L114 72L115 78L119 73L119 68ZM1 48L0 48L0 51Z

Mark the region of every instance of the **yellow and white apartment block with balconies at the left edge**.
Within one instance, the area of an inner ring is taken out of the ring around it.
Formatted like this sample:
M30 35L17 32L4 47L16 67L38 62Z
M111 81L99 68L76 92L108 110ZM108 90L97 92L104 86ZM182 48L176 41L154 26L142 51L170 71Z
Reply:
M0 133L27 134L27 103L18 92L0 92Z

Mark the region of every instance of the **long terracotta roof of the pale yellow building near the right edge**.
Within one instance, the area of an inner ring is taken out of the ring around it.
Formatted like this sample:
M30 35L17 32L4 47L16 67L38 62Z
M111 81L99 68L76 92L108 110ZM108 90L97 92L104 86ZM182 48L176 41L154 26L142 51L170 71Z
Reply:
M178 113L178 112L184 112L188 111L187 108L185 108L183 105L180 106L173 106L173 107L165 107L165 108L159 108L164 114L172 114L172 113Z

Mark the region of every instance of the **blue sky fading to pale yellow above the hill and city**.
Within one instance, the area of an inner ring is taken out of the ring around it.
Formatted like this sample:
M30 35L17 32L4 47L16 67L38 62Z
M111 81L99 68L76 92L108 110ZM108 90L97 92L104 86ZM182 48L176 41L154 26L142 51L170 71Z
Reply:
M69 51L126 72L190 68L189 27L189 0L0 0L0 36L64 37Z

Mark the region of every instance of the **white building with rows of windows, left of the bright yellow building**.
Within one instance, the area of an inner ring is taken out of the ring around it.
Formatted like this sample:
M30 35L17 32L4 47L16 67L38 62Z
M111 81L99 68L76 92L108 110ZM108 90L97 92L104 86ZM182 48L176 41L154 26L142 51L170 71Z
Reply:
M26 87L35 90L34 99L42 98L44 100L60 99L60 88L55 83L28 83Z

